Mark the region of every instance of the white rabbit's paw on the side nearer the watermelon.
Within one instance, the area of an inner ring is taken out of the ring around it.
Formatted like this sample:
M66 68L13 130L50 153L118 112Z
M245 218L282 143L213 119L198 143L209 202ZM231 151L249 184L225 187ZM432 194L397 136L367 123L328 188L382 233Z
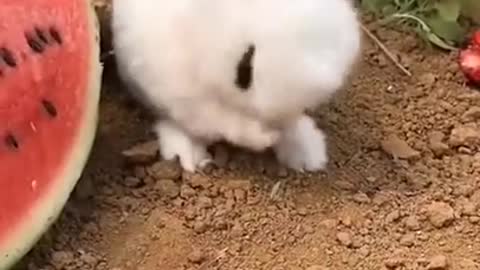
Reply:
M191 137L171 121L160 121L155 126L160 144L160 155L165 160L178 157L185 171L195 172L212 162L207 146Z

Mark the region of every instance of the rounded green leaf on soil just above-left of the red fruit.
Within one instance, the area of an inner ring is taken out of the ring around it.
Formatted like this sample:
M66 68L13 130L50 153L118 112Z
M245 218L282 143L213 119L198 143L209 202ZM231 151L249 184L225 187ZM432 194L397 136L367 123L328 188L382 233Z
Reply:
M459 43L465 37L465 30L456 21L446 21L440 16L430 16L426 23L436 36L449 43Z

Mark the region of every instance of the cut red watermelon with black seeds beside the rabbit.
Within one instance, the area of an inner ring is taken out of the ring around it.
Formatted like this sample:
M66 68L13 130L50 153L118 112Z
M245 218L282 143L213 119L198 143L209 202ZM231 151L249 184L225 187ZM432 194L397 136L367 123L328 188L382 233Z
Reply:
M0 269L56 220L93 144L98 22L89 0L0 0Z

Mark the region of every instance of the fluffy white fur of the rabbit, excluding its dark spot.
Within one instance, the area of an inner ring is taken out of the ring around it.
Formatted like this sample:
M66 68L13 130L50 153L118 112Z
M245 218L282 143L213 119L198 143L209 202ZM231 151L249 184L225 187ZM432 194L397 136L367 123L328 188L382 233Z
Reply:
M327 163L324 134L303 114L338 90L360 51L348 0L113 0L120 75L157 109L163 158L194 171L225 139L297 170ZM255 46L248 91L236 66Z

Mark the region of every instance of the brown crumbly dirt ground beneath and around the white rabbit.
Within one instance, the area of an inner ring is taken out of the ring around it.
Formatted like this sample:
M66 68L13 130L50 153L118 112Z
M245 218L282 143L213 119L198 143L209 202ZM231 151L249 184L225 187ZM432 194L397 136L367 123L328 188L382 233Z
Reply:
M125 157L155 137L107 66L88 167L19 269L480 269L480 92L455 54L368 27L413 76L366 39L352 83L318 110L318 174L224 145L195 175L152 143Z

